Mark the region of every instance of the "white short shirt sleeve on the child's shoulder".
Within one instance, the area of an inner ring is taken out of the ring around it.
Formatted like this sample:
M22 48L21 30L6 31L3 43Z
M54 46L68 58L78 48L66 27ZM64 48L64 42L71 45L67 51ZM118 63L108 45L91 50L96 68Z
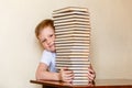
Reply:
M51 59L51 53L47 51L44 51L41 57L41 63L46 64L47 66L50 66L52 59Z

